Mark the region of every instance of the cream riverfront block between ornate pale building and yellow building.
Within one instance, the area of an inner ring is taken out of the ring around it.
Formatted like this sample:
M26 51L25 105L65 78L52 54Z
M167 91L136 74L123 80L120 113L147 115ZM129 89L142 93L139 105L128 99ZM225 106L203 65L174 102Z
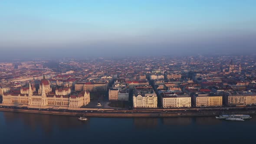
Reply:
M163 108L190 108L191 97L167 92L161 94L161 103Z

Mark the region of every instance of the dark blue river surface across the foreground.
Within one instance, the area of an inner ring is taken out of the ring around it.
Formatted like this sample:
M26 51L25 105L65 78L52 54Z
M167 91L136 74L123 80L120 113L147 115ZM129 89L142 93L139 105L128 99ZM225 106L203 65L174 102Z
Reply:
M0 111L1 144L244 144L256 142L256 115L246 121L214 116L89 118Z

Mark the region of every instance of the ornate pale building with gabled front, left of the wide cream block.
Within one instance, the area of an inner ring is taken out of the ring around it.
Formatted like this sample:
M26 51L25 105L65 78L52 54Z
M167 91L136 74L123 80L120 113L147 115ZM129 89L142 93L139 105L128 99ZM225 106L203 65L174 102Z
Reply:
M157 108L158 106L158 97L150 86L135 87L132 99L134 108Z

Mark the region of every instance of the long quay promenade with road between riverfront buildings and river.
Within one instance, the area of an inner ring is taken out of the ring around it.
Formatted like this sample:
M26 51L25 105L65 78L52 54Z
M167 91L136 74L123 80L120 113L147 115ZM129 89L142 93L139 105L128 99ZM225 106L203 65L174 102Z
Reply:
M0 111L13 111L24 113L38 113L49 115L85 115L88 117L184 117L206 116L221 114L256 114L256 107L229 107L229 108L180 108L180 109L88 109L88 110L63 110L63 109L37 109L37 108L10 108L0 107Z

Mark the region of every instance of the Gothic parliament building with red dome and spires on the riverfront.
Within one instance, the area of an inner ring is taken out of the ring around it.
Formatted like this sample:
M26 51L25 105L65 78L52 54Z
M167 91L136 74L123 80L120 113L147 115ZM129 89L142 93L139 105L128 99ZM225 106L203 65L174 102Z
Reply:
M55 92L50 87L50 82L43 77L39 84L38 92L29 84L20 91L3 93L4 105L23 105L28 108L49 108L62 106L66 108L80 108L90 102L89 92L80 92L78 95L70 95L70 88L56 88Z

